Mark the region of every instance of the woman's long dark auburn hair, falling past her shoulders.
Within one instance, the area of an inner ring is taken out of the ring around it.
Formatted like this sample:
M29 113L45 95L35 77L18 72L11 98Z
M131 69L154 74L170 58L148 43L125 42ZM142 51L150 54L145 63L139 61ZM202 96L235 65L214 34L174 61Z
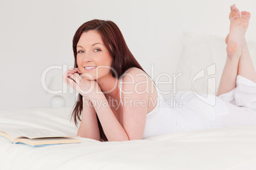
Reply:
M118 77L124 74L125 70L130 69L131 67L136 67L138 69L142 69L141 65L137 62L137 60L132 55L131 51L127 47L127 44L124 40L122 32L117 27L114 22L109 20L91 20L89 22L83 23L78 30L76 30L75 36L73 37L73 52L75 57L74 67L77 68L78 65L76 63L76 45L82 35L83 32L87 32L89 30L96 30L103 40L104 46L108 49L108 52L112 58L111 68L115 70L113 72L111 70L111 75L113 77ZM143 70L144 71L144 70ZM145 71L144 71L145 72ZM78 126L78 121L81 120L83 110L83 97L82 95L78 95L78 99L73 107L73 112L71 119L74 119L76 126ZM96 114L97 115L97 114ZM103 128L101 126L101 122L99 121L99 117L97 116L97 122L99 126L99 132L101 138L104 141L108 141L106 135L104 134Z

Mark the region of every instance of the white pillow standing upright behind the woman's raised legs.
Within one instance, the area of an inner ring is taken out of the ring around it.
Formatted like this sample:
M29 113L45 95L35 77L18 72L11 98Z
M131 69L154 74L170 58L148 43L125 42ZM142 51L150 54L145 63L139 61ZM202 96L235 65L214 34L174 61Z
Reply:
M182 75L176 79L176 91L193 91L194 88L203 96L216 95L227 58L225 37L184 32L182 43L176 72ZM256 63L256 43L248 42L248 48Z

